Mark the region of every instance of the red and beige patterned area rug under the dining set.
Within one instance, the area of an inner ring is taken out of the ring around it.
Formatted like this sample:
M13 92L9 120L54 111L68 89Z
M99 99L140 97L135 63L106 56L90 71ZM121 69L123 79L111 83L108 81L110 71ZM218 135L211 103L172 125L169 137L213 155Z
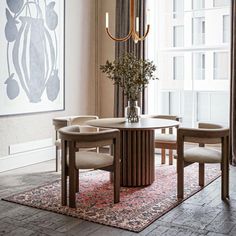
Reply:
M206 183L219 176L219 169L218 165L206 166ZM185 199L199 190L198 165L190 165L185 168ZM121 188L118 204L113 204L109 173L104 171L80 175L77 209L60 205L60 180L3 200L134 232L142 231L180 203L176 199L176 167L167 165L156 166L155 182L151 186Z

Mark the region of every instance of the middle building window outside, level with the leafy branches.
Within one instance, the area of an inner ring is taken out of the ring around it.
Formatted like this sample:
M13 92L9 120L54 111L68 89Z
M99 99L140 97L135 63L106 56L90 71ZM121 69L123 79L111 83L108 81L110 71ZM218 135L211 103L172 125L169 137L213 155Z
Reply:
M193 79L205 79L205 54L193 53Z

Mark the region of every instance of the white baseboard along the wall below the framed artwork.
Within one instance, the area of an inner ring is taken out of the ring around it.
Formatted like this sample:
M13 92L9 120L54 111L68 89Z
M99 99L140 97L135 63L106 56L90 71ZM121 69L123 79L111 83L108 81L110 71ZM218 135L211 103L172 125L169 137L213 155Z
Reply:
M0 158L0 173L55 159L55 146Z

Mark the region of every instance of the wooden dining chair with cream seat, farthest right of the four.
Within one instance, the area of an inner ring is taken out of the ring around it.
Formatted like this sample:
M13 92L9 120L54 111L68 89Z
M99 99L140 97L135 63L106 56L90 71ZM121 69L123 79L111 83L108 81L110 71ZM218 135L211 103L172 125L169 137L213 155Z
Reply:
M184 197L184 166L199 163L199 186L204 186L205 163L221 164L221 198L229 197L229 129L211 123L199 123L199 128L177 130L177 197ZM184 149L184 144L197 143L198 147ZM220 144L221 150L205 146Z

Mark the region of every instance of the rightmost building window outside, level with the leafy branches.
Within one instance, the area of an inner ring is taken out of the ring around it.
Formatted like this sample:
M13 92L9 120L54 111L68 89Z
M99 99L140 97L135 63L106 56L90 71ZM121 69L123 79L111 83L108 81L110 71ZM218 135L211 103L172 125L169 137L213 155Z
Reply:
M214 80L229 79L229 53L214 53Z

